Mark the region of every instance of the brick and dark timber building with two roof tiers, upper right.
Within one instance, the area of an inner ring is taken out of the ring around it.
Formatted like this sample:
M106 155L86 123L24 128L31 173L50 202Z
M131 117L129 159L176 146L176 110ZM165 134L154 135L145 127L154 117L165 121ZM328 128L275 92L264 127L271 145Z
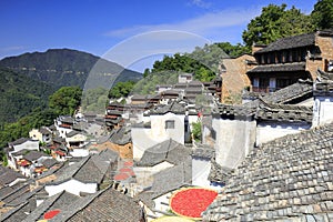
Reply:
M299 34L256 48L258 67L248 71L252 91L272 92L316 78L316 71L333 71L333 30Z

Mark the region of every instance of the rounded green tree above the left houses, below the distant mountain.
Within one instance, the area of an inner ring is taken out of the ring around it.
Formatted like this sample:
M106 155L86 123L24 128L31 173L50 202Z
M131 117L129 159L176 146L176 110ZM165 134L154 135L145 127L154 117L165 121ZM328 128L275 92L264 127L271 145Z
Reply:
M81 103L82 90L79 87L62 87L49 98L49 107L57 114L74 114Z

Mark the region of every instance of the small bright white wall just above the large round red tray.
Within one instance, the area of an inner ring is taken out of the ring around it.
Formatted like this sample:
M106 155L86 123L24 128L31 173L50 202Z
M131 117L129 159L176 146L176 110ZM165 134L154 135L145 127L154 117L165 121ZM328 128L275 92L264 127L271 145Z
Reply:
M202 158L192 158L192 185L210 186L208 180L211 171L211 161Z

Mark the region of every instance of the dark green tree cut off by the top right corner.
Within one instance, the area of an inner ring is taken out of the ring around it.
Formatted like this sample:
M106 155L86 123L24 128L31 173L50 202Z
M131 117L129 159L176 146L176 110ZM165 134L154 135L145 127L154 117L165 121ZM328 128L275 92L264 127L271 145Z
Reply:
M311 18L317 29L333 28L333 0L319 0L314 4Z

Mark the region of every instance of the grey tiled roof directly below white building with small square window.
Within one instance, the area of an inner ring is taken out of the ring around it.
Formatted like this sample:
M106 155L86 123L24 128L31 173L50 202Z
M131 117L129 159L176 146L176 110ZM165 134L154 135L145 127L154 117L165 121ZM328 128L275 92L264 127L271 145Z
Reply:
M190 154L191 149L170 139L144 151L141 160L137 162L137 165L153 167L163 161L176 165L182 163Z

